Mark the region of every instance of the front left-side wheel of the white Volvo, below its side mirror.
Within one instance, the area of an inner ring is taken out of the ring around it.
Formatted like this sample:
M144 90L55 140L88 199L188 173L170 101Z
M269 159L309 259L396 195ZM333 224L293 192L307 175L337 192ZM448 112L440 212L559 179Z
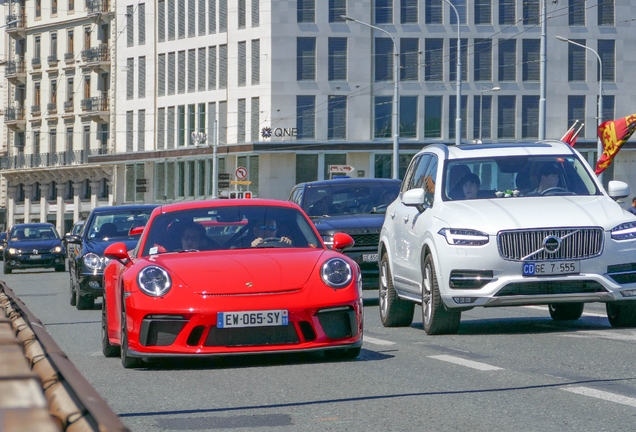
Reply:
M424 331L429 335L457 333L461 318L460 311L447 310L444 306L439 294L433 257L427 255L424 260L424 280L422 281Z

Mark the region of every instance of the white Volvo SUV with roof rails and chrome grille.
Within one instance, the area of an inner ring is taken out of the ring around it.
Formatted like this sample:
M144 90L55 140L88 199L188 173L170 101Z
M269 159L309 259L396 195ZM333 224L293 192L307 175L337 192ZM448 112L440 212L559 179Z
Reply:
M576 320L605 302L612 326L636 326L636 218L561 141L430 145L411 161L380 234L380 316L456 333L474 307L549 305Z

